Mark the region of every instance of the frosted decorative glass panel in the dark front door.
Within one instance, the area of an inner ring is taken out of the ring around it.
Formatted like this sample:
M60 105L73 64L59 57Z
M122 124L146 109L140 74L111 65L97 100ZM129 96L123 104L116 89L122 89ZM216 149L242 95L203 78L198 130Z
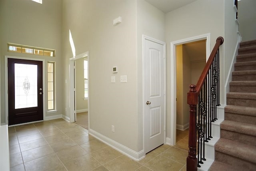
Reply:
M15 109L37 107L37 65L14 64Z

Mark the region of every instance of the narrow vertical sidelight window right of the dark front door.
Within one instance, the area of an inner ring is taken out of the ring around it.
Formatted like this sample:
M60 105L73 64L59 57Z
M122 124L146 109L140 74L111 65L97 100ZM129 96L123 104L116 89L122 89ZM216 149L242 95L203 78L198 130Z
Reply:
M55 105L55 63L47 63L48 74L48 110L56 110Z

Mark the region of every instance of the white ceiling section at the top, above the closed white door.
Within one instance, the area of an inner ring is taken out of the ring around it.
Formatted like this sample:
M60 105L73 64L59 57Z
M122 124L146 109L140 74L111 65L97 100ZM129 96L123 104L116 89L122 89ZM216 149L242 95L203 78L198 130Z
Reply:
M176 10L196 0L145 0L164 13Z

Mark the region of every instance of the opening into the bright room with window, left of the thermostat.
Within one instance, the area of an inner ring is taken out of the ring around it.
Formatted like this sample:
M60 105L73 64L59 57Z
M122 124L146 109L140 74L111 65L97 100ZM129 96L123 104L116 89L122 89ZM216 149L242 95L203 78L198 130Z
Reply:
M76 118L75 122L88 129L88 59L75 60Z

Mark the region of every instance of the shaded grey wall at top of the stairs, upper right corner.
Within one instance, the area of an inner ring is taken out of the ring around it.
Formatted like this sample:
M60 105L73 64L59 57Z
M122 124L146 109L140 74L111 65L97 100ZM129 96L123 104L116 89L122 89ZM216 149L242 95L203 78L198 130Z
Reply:
M239 32L242 41L256 40L256 1L241 0L238 1L238 21Z

